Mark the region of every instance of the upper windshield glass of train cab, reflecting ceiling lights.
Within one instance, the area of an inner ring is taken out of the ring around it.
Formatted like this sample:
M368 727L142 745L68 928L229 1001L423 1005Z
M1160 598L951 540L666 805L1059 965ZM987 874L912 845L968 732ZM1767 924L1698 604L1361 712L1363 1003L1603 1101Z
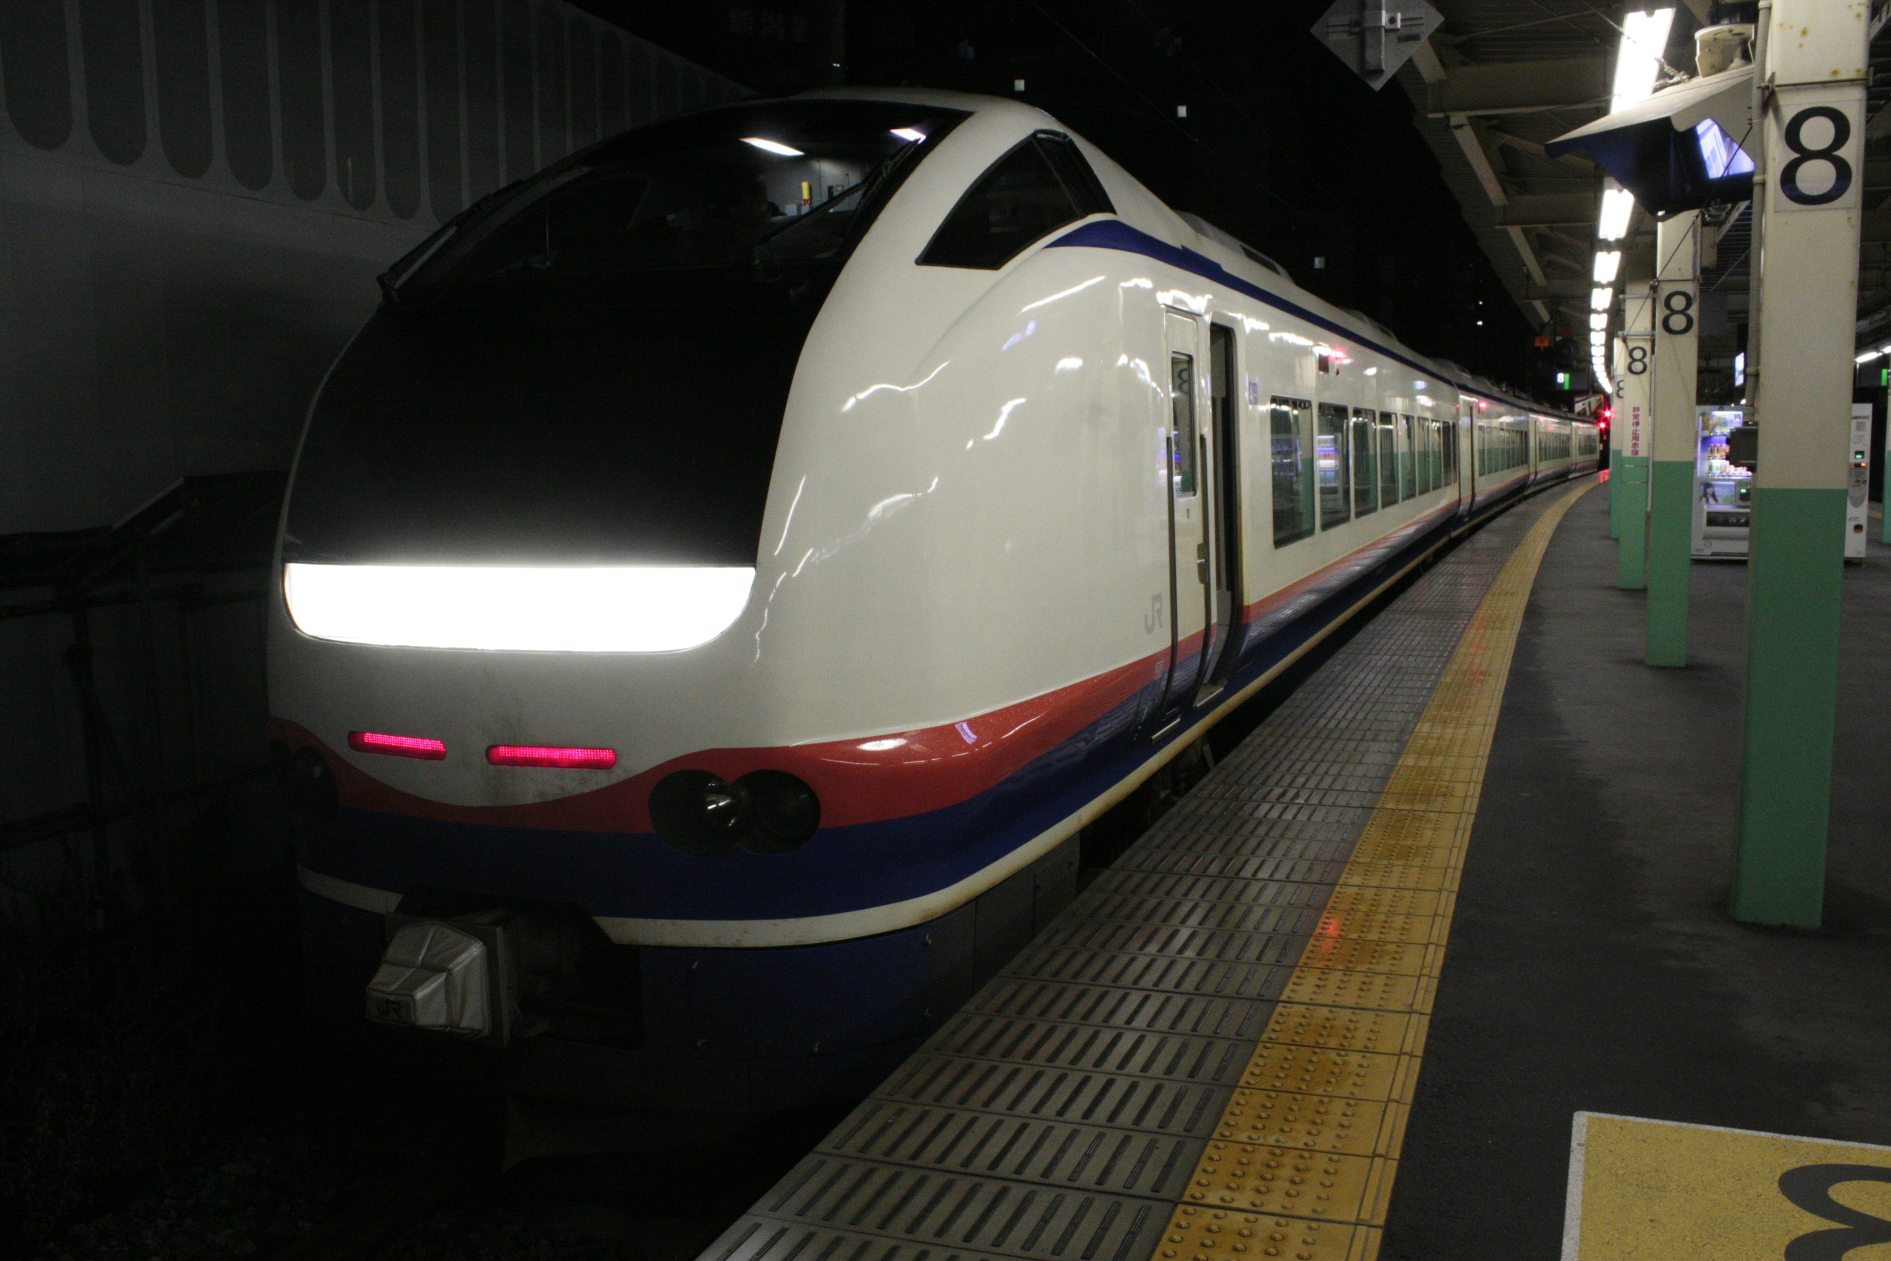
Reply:
M397 287L836 261L963 117L787 100L626 132L448 225Z

